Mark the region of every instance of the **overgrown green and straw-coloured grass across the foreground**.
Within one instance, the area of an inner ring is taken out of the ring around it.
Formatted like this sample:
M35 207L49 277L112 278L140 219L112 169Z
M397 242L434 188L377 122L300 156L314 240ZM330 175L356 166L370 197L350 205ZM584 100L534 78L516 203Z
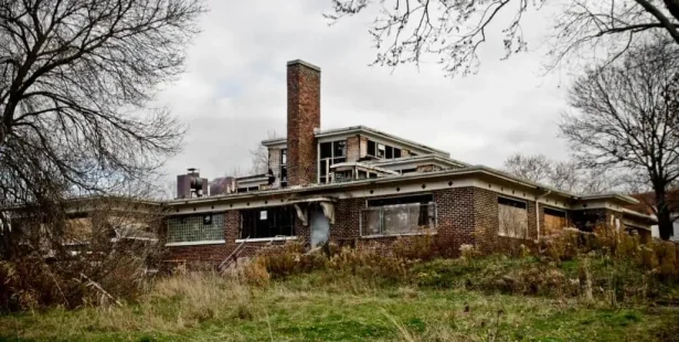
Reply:
M348 257L348 256L344 256ZM363 256L356 256L364 258ZM394 281L356 269L296 274L264 285L214 274L157 281L134 304L52 309L0 317L8 341L671 341L679 308L611 303L492 288L497 269L530 269L533 258L433 260ZM601 264L601 265L600 265ZM604 261L592 263L594 281ZM562 263L577 277L577 261ZM495 271L492 269L496 269ZM436 281L432 281L435 279ZM470 285L471 284L471 285ZM666 288L667 293L676 290ZM530 295L530 296L529 296ZM667 295L665 297L668 297Z

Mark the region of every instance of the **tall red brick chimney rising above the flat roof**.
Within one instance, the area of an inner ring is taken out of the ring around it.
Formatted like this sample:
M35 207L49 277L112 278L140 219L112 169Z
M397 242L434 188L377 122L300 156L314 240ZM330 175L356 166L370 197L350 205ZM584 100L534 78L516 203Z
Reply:
M317 180L317 143L320 128L320 67L296 60L287 63L288 82L288 185Z

